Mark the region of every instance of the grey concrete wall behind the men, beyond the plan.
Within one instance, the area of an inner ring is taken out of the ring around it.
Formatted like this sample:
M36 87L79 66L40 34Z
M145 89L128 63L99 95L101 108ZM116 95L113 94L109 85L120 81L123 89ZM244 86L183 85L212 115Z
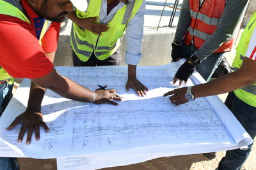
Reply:
M73 66L72 49L70 48L70 25L62 32L56 52L55 66ZM139 66L160 66L171 62L171 43L175 35L175 29L160 27L158 31L154 27L145 27L141 52L143 57ZM122 65L124 63L125 41L121 39ZM159 58L161 57L161 58Z

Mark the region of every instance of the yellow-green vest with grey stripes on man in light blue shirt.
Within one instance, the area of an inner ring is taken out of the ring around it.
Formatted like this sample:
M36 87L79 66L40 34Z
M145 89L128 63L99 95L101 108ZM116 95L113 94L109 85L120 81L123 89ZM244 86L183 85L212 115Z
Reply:
M89 18L100 17L101 0L90 1L86 12L76 10L77 17ZM140 9L143 0L131 0L113 15L108 23L108 31L102 32L101 36L86 29L81 29L73 23L70 44L72 49L82 61L87 61L94 52L99 60L105 60L116 52L120 46L119 38L124 36L127 23ZM98 21L99 23L99 21Z

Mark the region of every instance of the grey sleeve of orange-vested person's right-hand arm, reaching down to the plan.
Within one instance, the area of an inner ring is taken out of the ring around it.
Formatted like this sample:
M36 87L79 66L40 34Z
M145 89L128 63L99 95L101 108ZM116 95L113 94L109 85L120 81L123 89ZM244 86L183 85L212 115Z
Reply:
M214 53L223 43L230 40L236 29L239 19L243 15L248 0L230 0L218 22L218 28L205 41L195 53L196 57L204 60L207 56Z

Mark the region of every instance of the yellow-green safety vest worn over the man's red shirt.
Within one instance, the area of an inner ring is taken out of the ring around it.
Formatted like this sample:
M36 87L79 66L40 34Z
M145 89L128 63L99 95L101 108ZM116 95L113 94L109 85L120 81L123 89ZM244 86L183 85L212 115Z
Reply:
M23 20L25 22L29 22L29 19L26 17L26 15L24 14L24 10L21 6L21 4L19 3L19 0L0 0L0 14L3 15L10 15L12 17L17 17L20 20ZM39 43L41 45L41 40L44 37L45 32L47 31L47 29L49 29L51 25L50 21L45 20L45 24L42 28L41 34L40 34L40 39L39 39ZM14 78L12 78L12 76L10 76L3 67L0 66L0 81L8 81L8 83L13 83Z

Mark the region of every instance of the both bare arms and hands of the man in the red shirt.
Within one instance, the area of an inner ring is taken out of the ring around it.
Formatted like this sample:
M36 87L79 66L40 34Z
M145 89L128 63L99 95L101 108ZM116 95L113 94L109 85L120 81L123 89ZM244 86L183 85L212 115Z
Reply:
M54 53L46 53L47 57L51 61L54 59ZM13 129L15 125L22 123L20 128L18 142L20 143L24 137L26 129L28 129L28 135L26 143L31 143L31 137L35 129L35 138L38 141L40 139L40 126L44 127L46 132L49 132L49 128L43 121L43 114L41 113L41 103L45 94L46 89L51 89L54 92L60 94L63 97L72 99L75 101L91 102L94 99L95 104L109 103L117 105L114 100L120 101L121 98L113 94L116 92L114 89L110 90L96 90L92 92L89 89L78 85L74 81L61 76L53 68L51 73L41 78L31 79L31 88L29 93L28 107L24 113L15 118L12 124L7 128L8 130ZM94 97L93 97L93 94Z

